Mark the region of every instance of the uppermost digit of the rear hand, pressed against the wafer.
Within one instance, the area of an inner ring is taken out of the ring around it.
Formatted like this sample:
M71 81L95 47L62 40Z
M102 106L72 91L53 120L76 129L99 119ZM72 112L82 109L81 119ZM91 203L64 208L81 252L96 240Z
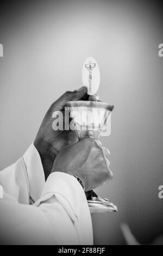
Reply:
M67 91L62 96L59 97L57 101L55 101L51 109L55 110L61 110L65 107L65 103L67 101L76 101L76 100L82 100L83 96L87 93L87 88L85 86L82 86L81 88L73 91Z

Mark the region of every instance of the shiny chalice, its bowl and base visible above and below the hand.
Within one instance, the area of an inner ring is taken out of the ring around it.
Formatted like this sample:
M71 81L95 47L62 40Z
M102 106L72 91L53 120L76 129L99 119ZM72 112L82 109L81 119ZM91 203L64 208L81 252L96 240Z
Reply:
M66 107L69 108L70 118L72 118L70 129L76 131L79 140L99 139L103 132L109 133L106 126L114 106L100 101L68 101ZM117 211L114 204L106 198L99 197L93 190L87 191L86 197L91 213Z

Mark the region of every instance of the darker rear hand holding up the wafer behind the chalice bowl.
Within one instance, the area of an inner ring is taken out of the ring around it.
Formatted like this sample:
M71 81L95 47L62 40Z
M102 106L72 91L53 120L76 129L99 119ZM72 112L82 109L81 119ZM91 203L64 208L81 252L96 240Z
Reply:
M57 101L55 101L51 107L49 107L45 117L43 118L42 124L39 131L37 132L34 145L39 151L43 170L45 172L45 178L51 173L53 162L59 151L66 145L71 145L78 141L76 132L72 130L54 131L52 124L54 118L52 118L54 111L62 111L64 115L64 107L67 101L75 100L92 100L97 101L98 96L87 95L87 88L82 87L73 92L64 93Z

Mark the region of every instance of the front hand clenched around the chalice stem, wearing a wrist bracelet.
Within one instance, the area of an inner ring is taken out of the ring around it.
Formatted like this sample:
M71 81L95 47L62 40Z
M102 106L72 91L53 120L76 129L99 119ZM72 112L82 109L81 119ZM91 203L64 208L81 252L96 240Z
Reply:
M89 191L112 178L109 156L109 150L103 148L99 141L85 138L61 149L55 158L52 172L78 176L85 191Z

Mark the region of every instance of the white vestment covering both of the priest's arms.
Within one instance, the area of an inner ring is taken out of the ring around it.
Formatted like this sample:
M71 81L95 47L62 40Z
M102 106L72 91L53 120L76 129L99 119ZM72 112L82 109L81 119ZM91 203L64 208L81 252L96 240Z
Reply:
M0 185L1 244L92 245L91 215L82 186L61 172L50 174L45 182L33 144L0 172Z

